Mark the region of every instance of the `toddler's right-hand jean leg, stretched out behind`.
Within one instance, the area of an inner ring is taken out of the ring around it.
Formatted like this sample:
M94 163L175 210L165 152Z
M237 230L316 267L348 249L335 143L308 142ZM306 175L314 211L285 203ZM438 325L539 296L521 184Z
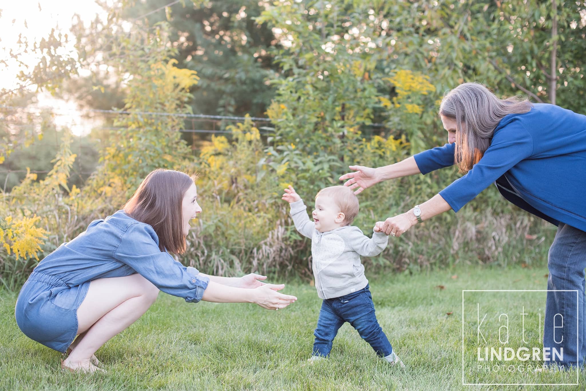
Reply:
M362 293L353 300L339 304L340 314L349 322L358 334L368 342L377 355L384 357L393 353L389 339L379 325L374 314L374 304L370 290L365 288Z

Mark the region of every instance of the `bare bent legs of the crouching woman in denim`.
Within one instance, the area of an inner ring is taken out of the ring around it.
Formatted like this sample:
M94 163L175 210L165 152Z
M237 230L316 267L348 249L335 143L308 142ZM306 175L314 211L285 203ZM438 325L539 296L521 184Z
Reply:
M108 339L147 312L158 293L158 288L140 274L91 281L86 298L77 310L77 332L81 339L76 341L64 365L71 369L96 370L90 363L91 356Z

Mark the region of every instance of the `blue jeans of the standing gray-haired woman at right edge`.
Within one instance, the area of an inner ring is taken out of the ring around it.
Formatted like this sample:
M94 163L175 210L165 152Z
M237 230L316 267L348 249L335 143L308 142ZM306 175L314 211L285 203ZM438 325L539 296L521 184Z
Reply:
M560 223L547 257L548 292L543 326L544 348L556 349L563 358L551 355L551 361L563 366L581 366L586 354L586 232Z

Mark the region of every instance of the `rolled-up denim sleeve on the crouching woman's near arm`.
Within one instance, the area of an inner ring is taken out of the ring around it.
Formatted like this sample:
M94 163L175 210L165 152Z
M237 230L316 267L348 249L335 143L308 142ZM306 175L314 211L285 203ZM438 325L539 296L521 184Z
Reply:
M158 237L151 226L133 224L114 251L114 259L134 269L157 288L187 302L202 300L209 278L199 276L194 267L185 267L159 250Z

